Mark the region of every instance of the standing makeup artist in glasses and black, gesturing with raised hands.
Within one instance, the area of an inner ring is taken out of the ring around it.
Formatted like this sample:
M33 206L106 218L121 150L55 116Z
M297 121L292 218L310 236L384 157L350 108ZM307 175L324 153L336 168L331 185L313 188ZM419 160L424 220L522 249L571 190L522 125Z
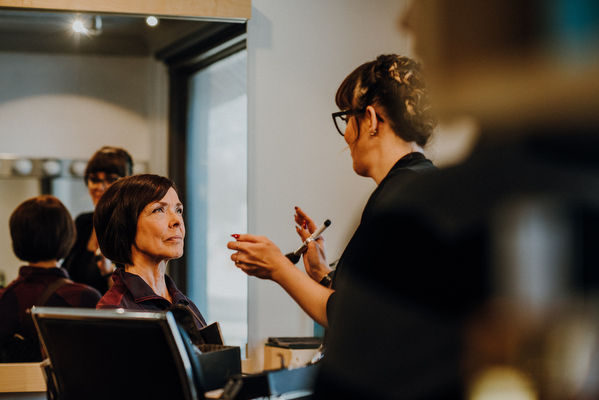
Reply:
M394 54L381 55L345 78L335 101L341 111L333 113L333 119L349 145L354 171L377 183L335 274L328 266L322 237L309 243L304 253L307 275L295 268L263 236L236 234L233 235L236 241L227 245L235 250L231 259L238 268L248 275L277 282L325 328L332 319L335 289L343 284L344 270L353 260L364 259L364 254L368 254L374 245L371 237L377 227L371 221L394 207L402 196L405 183L436 170L422 154L436 122L430 114L428 90L420 63ZM295 221L302 240L317 229L312 219L298 207ZM363 265L359 267L364 268ZM374 268L372 273L376 273Z

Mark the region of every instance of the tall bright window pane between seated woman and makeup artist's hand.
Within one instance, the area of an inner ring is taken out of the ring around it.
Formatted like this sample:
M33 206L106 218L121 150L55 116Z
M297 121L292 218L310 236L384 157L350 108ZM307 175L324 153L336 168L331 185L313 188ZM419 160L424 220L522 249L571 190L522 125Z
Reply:
M247 52L191 75L187 116L187 287L228 345L247 343L247 276L226 243L247 231Z

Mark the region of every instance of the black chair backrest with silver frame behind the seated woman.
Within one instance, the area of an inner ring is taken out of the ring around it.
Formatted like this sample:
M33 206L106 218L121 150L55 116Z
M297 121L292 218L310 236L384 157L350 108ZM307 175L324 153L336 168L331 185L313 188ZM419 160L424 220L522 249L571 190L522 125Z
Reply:
M32 316L60 400L203 398L170 312L34 307Z

